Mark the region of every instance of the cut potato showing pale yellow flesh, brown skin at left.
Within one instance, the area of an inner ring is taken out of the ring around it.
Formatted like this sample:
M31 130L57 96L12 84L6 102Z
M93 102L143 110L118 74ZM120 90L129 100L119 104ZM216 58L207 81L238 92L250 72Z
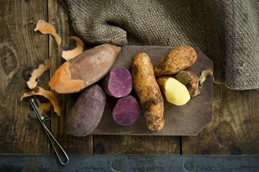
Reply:
M157 84L166 100L171 104L182 106L191 99L186 86L173 77L159 77Z

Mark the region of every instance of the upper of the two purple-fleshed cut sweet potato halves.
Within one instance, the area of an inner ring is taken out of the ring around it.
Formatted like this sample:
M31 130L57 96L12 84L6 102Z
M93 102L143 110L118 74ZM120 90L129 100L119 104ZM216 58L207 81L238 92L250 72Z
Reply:
M103 80L105 93L113 97L125 97L132 90L132 77L128 69L119 66L113 68Z

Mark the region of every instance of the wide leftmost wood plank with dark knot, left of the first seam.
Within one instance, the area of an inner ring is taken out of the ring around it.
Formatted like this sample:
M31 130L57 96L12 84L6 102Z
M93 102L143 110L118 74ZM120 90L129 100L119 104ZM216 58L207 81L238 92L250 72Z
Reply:
M34 32L47 19L46 1L0 1L0 153L50 153L50 144L28 99L17 97L26 88L23 70L37 68L48 58L48 37ZM48 87L48 73L39 86Z

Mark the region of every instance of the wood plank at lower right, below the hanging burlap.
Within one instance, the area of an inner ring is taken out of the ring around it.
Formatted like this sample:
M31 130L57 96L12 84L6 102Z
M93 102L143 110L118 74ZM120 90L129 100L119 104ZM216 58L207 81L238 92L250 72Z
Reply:
M258 154L258 99L258 90L229 90L222 86L222 100L213 113L213 122L197 137L182 137L182 153Z

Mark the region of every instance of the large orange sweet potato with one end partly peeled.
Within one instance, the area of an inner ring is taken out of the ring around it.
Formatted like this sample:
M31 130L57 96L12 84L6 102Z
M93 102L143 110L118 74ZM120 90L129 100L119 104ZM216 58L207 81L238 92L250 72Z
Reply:
M66 61L52 76L50 88L57 93L76 93L102 79L115 62L121 48L103 44Z

